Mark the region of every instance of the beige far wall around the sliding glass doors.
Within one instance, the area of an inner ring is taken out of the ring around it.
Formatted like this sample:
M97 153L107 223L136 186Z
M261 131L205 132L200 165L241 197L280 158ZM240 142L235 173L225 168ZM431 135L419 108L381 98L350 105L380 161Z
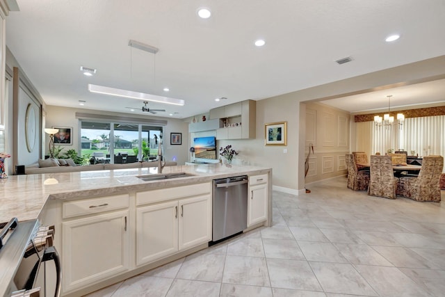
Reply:
M113 115L113 116L122 116L122 113L111 113L104 111L91 111L88 109L69 109L66 107L60 106L47 106L46 111L46 127L52 126L62 126L62 127L72 127L73 128L73 136L72 136L72 145L64 145L65 150L74 149L79 152L80 143L79 140L81 138L80 135L80 127L79 127L79 119L76 119L75 113L92 113L92 114L100 114L100 115ZM149 116L144 117L135 117L132 118L141 118L147 119ZM178 164L184 164L184 162L188 159L188 124L183 120L177 120L172 118L160 118L160 117L152 117L156 120L167 120L168 124L163 129L163 148L164 155L167 161L173 161L176 158ZM170 145L170 133L181 133L182 134L182 145ZM46 143L49 142L49 136L46 136ZM46 151L48 148L46 148Z

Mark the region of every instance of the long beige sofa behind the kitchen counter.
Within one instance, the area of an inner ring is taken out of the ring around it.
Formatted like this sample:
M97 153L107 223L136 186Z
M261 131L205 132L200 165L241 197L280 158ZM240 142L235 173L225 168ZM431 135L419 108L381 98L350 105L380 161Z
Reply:
M177 162L165 162L165 166L176 166ZM35 175L41 173L60 173L60 172L79 172L92 170L113 170L127 168L148 168L157 167L158 162L136 162L122 164L94 164L86 166L77 166L71 159L47 159L39 160L30 166L25 166L26 175Z

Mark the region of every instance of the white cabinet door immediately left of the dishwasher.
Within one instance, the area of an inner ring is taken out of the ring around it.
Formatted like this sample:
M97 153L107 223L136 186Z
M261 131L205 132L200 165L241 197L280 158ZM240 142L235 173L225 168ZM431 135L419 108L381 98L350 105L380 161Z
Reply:
M179 200L179 250L211 241L211 195Z

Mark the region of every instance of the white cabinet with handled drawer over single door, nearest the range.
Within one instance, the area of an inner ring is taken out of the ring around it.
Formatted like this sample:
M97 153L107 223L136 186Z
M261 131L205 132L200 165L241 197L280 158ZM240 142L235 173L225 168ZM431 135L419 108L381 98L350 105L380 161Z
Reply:
M129 195L63 203L64 291L129 269Z

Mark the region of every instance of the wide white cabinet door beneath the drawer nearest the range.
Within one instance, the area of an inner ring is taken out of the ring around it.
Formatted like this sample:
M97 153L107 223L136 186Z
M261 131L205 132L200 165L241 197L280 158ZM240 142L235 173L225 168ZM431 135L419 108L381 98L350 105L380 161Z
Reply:
M62 223L63 291L128 270L128 217L117 211Z

